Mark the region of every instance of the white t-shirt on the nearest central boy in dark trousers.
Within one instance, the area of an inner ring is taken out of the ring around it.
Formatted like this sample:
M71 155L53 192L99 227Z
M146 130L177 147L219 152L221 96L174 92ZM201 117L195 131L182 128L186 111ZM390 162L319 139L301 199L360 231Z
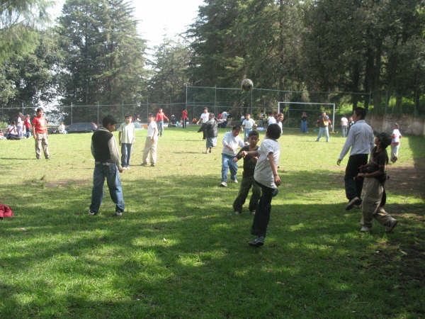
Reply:
M280 145L277 140L266 138L259 148L259 159L255 165L254 179L261 185L270 187L271 189L277 189L278 186L274 182L273 171L267 157L270 152L273 152L273 160L277 167L280 157Z

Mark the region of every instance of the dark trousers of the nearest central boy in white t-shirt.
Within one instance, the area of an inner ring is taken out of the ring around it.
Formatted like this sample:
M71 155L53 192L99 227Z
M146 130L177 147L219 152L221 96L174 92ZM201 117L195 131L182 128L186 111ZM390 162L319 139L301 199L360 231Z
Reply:
M256 181L254 181L256 183ZM260 202L257 205L254 223L252 223L251 234L266 237L268 220L270 220L271 198L273 197L273 189L256 183L261 187Z

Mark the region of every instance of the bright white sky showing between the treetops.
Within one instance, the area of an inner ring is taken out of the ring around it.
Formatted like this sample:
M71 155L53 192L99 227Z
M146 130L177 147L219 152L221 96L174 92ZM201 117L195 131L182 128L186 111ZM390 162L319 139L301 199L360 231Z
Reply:
M57 0L50 11L52 18L60 16L65 0ZM164 38L174 38L187 30L196 16L203 0L130 0L139 20L139 34L147 40L148 47L159 45Z

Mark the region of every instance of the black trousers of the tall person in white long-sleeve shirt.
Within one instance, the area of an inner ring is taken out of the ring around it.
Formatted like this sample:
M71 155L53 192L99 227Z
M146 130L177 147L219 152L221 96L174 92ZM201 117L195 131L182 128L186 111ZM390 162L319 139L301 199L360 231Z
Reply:
M346 196L348 201L351 201L354 197L361 198L361 190L363 189L363 179L356 179L358 174L358 167L368 163L367 154L356 154L351 155L348 159L346 167L346 174L344 177Z

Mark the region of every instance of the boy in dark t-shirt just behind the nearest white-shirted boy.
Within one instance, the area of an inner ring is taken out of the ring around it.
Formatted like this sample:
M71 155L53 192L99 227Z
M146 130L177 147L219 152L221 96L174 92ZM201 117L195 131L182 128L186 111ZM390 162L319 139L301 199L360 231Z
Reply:
M233 162L237 162L242 158L242 152L256 151L259 149L257 143L259 142L259 133L256 130L251 130L248 135L249 145L245 145L239 150ZM258 184L254 182L254 169L258 157L247 155L244 157L244 173L242 174L242 182L239 188L239 194L233 202L233 209L236 215L242 213L242 206L244 206L246 196L248 196L249 189L252 186L251 200L249 201L249 211L255 213L256 206L259 203L261 196L261 189Z

